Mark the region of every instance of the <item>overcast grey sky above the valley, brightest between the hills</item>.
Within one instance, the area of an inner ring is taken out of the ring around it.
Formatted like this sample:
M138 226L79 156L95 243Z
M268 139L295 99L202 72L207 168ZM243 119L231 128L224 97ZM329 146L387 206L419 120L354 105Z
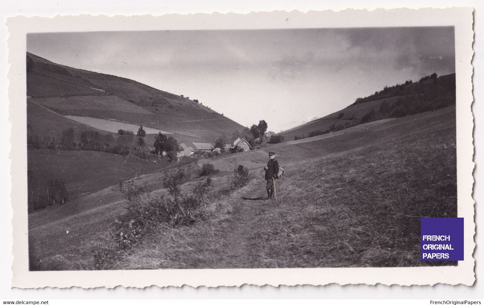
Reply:
M27 50L276 132L384 86L455 72L452 27L35 33Z

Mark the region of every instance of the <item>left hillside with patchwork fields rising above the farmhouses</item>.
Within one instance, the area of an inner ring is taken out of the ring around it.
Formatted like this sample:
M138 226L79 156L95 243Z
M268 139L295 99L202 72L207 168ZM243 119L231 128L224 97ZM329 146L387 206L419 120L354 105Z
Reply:
M27 95L62 115L112 118L210 139L243 126L184 97L136 81L75 69L27 53ZM45 123L48 125L48 122ZM206 142L201 141L197 142Z

